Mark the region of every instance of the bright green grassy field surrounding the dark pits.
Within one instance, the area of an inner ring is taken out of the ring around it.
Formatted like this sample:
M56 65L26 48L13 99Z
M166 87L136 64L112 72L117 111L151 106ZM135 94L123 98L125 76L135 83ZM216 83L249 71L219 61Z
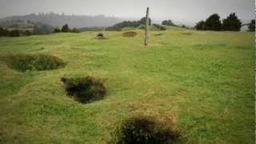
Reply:
M0 38L0 143L106 143L133 114L174 119L186 143L254 143L254 33L182 29ZM9 54L53 54L58 70L18 72ZM60 78L104 79L106 98L82 104Z

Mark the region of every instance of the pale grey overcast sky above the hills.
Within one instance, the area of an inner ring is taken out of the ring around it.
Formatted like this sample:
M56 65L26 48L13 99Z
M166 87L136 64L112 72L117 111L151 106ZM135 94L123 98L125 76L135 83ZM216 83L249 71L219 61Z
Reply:
M240 19L254 18L254 0L0 0L0 18L11 15L54 12L142 18L146 7L150 18L196 22L218 13L222 18L237 13Z

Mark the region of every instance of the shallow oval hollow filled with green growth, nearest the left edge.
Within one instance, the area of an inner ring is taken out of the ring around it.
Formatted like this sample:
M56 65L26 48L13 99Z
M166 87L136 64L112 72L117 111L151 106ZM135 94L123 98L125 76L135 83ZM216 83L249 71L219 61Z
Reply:
M47 54L17 54L6 60L7 65L18 71L54 70L65 66L61 58Z

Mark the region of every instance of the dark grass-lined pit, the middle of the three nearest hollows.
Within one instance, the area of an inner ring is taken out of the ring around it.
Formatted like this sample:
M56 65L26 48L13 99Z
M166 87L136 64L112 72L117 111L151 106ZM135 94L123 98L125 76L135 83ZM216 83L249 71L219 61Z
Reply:
M78 102L88 103L101 100L106 95L106 87L101 79L94 77L61 78L66 93Z

